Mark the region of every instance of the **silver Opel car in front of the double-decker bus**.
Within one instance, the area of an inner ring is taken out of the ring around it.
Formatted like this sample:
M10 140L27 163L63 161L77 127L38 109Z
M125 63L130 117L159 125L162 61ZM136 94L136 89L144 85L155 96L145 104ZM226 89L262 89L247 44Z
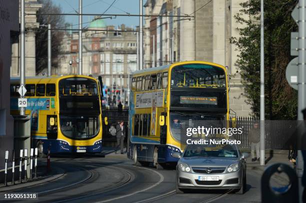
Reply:
M234 189L243 194L246 188L247 153L236 145L187 145L184 152L175 152L176 193L184 189Z

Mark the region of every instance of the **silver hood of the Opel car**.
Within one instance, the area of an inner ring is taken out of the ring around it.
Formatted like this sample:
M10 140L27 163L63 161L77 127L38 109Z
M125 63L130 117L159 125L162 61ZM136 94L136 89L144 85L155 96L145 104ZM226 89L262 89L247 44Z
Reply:
M189 167L228 167L238 162L238 158L232 157L186 157L181 162L186 163Z

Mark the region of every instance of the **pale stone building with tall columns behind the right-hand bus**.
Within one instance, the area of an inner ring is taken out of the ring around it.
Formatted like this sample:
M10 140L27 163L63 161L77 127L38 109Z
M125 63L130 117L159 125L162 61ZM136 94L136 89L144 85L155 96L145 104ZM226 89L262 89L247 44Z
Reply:
M229 43L230 37L238 36L236 28L241 25L237 24L234 15L241 9L243 1L147 0L144 4L146 14L191 14L195 17L146 17L144 67L152 66L153 43L156 66L172 60L204 60L226 66L230 75L229 108L237 116L252 115L236 65L238 51L235 45ZM154 42L152 35L155 35Z

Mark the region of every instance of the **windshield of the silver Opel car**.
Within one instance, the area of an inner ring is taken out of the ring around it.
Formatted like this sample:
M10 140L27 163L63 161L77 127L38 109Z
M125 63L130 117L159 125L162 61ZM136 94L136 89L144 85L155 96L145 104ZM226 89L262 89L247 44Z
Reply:
M231 157L237 158L234 145L188 145L183 157Z

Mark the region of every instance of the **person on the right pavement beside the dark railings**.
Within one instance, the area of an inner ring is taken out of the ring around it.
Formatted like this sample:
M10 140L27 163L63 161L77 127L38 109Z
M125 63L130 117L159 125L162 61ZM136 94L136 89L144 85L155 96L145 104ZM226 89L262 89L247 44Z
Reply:
M259 131L259 124L255 122L253 124L253 128L249 130L248 132L248 141L250 142L250 148L251 148L251 158L252 162L259 161L259 147L260 147L260 131ZM256 156L254 151L256 150Z

